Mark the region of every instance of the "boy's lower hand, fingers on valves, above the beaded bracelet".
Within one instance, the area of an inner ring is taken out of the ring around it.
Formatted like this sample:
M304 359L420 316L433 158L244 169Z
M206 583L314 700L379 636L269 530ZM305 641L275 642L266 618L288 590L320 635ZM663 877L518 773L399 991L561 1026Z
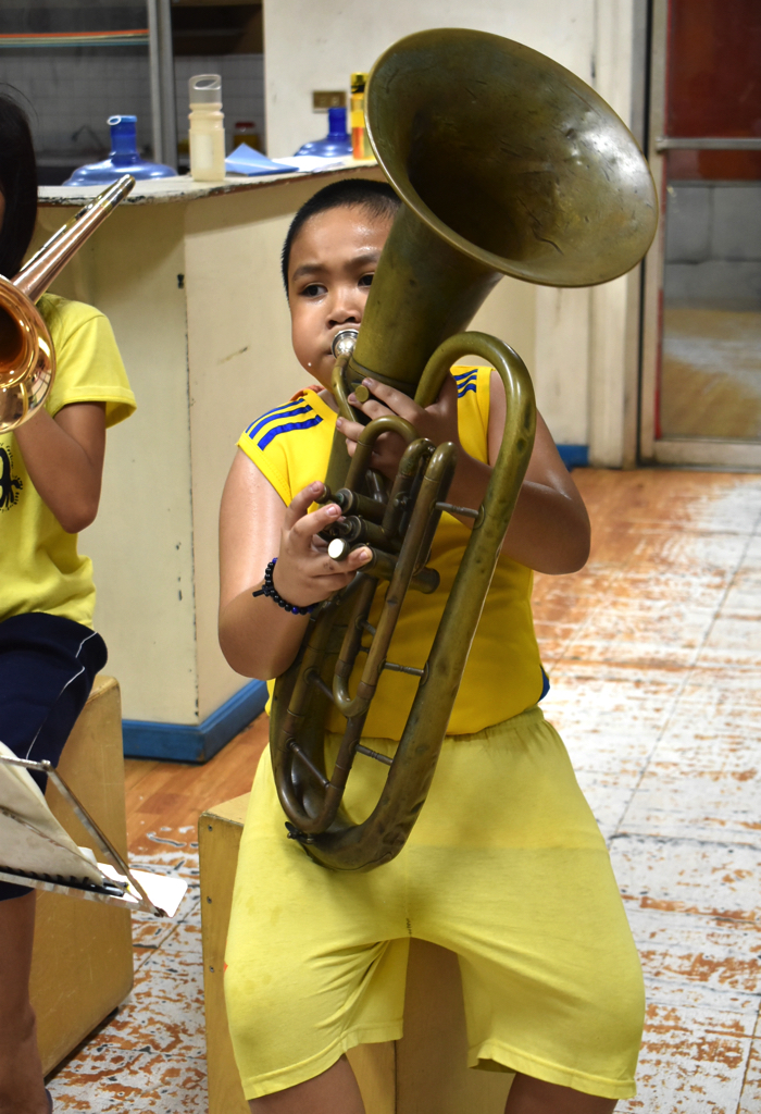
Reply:
M324 483L310 483L298 492L285 512L273 580L279 595L297 607L319 604L345 588L370 558L369 550L364 547L353 550L346 560L328 557L325 541L318 534L340 520L340 508L329 502L308 514L324 490Z

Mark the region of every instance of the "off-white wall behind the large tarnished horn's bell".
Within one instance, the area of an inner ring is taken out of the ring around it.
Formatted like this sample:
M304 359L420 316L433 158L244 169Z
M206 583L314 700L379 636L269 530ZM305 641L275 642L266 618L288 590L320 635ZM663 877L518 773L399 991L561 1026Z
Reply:
M265 89L268 150L318 138L313 89L347 88L391 43L414 31L466 27L541 50L593 85L632 121L635 16L641 0L268 0ZM642 69L638 60L636 66ZM640 72L636 72L640 78ZM590 444L596 463L624 461L624 410L635 411L636 283L556 291L503 282L475 322L521 351L555 439Z

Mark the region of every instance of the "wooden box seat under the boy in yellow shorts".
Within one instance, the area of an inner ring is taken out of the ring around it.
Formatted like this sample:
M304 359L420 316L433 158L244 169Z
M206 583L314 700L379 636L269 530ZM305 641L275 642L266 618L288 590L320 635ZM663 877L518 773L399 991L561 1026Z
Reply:
M247 805L246 793L209 809L198 821L209 1114L248 1114L223 989L225 940ZM366 1114L502 1114L512 1076L468 1071L466 1048L456 957L433 944L412 940L404 1039L360 1045L348 1053Z

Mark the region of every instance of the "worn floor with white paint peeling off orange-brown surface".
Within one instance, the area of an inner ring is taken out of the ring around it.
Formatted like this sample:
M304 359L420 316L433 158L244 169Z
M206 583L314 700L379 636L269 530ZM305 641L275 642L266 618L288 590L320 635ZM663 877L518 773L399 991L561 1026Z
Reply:
M645 973L640 1092L619 1111L761 1114L761 477L575 478L592 557L537 577L535 615L545 711L610 841ZM243 792L261 742L257 724L201 770L128 763L136 860L191 889L176 922L136 918L135 989L52 1079L57 1110L206 1111L188 815Z

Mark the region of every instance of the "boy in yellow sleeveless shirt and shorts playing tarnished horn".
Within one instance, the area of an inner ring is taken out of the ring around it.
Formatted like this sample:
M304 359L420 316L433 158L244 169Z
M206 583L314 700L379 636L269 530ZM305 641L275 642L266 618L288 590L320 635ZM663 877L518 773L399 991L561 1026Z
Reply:
M337 417L330 344L362 322L398 204L388 186L339 182L299 211L286 240L294 350L320 387L250 423L225 489L220 642L246 676L283 673L308 622L299 613L347 585L368 558L359 548L332 560L318 535L339 508L309 508L324 490L334 429L350 453L362 430ZM434 443L457 446L448 498L478 507L505 420L498 377L453 368L425 410L378 382L366 385L373 398L349 401L368 418L396 413ZM393 477L403 449L386 436L373 467ZM442 517L429 560L441 586L407 597L389 658L424 665L471 527ZM547 681L531 617L532 570L575 571L589 544L582 499L537 418L433 785L391 863L368 873L316 867L286 839L270 763L259 764L225 979L254 1114L362 1114L344 1053L401 1037L411 937L457 954L468 1063L516 1073L508 1114L606 1114L634 1094L640 965L604 842L537 706ZM290 609L257 594L268 564ZM413 678L383 674L366 745L393 755L414 691ZM330 717L327 726L329 766L343 723ZM344 798L355 821L373 809L385 773L372 761L355 763Z

